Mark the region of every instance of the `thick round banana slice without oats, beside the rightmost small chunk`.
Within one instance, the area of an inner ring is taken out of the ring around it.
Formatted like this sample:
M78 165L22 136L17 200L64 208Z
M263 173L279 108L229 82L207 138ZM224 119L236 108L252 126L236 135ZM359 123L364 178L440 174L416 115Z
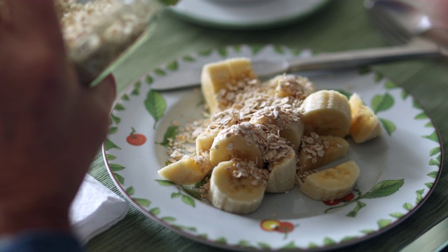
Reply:
M321 90L309 94L300 105L305 134L345 137L349 134L351 111L349 100L334 90Z

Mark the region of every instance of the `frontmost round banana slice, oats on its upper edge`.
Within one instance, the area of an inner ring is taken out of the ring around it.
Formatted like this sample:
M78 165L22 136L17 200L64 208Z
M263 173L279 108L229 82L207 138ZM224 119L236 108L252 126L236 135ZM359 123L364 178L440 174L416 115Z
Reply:
M253 162L221 162L211 172L209 201L230 213L249 214L260 207L265 195L263 176Z

